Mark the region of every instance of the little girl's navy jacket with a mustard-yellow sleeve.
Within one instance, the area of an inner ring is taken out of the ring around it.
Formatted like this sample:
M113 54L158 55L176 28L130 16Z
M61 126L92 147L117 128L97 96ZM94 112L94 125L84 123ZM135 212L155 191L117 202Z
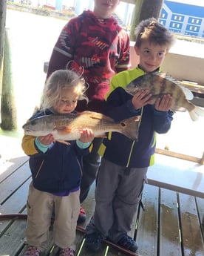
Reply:
M33 117L53 114L51 111L38 112ZM31 119L33 119L33 117ZM35 137L24 135L22 148L30 156L29 164L33 186L49 193L75 191L81 185L82 157L89 154L89 148L81 149L76 141L70 145L52 142L46 153L39 151Z

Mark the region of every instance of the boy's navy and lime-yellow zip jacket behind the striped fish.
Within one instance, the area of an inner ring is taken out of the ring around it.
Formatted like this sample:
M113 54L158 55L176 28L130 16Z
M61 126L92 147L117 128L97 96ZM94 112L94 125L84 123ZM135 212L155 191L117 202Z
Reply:
M131 101L132 96L124 90L130 82L128 80L132 79L129 73L136 73L137 76L137 68L113 76L115 84L112 85L113 90L106 99L104 114L115 121L140 116L138 141L130 140L116 132L109 133L107 139L103 140L99 154L120 166L144 168L154 164L156 133L165 134L169 131L173 112L156 111L154 105L146 105L135 111Z

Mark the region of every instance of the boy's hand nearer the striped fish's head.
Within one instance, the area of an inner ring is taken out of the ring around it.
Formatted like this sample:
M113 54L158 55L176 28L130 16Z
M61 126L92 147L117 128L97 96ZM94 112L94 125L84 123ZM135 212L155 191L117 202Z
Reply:
M140 90L132 97L132 105L134 105L135 110L142 108L145 105L152 104L152 96L149 90Z

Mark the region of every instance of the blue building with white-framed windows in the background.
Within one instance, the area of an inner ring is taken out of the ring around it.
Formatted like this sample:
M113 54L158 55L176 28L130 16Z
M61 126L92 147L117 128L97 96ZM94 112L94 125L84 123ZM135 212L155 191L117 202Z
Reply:
M166 0L160 23L174 33L204 37L204 7Z

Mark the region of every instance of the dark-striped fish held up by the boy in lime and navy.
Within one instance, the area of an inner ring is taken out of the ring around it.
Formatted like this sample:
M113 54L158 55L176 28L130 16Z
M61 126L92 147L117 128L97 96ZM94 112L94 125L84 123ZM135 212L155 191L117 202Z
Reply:
M193 93L188 88L183 87L170 75L166 73L154 72L139 76L132 80L125 90L131 95L135 95L139 90L148 89L152 93L153 104L158 97L165 94L172 96L173 102L171 105L172 111L188 111L193 121L199 116L204 116L204 109L200 108L189 100L193 99Z

